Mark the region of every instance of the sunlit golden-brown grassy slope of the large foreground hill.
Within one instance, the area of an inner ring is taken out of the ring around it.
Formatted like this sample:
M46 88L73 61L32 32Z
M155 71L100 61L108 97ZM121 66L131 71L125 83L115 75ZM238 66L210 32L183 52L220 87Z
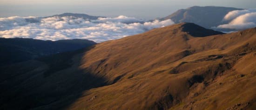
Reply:
M97 44L80 67L115 84L85 92L68 109L253 109L256 28L193 37L185 24Z

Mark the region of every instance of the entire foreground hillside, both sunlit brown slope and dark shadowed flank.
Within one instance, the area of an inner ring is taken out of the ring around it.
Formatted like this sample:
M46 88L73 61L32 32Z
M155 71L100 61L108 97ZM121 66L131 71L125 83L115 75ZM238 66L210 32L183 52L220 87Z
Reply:
M1 70L7 109L253 110L256 28L175 24Z

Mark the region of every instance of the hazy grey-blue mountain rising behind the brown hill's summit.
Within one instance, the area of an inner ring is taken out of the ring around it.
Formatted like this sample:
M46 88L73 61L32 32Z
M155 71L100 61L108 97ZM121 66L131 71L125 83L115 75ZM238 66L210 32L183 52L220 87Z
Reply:
M220 24L227 24L229 21L223 22L224 16L234 10L243 10L240 8L220 7L220 6L192 6L187 9L180 9L173 14L161 18L161 20L172 19L175 23L195 23L204 28L211 28Z

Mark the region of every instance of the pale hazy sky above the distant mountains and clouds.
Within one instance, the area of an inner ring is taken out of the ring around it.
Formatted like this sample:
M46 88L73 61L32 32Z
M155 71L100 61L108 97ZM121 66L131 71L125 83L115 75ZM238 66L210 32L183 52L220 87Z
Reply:
M0 17L49 16L63 12L161 18L190 6L256 8L256 0L0 0Z

